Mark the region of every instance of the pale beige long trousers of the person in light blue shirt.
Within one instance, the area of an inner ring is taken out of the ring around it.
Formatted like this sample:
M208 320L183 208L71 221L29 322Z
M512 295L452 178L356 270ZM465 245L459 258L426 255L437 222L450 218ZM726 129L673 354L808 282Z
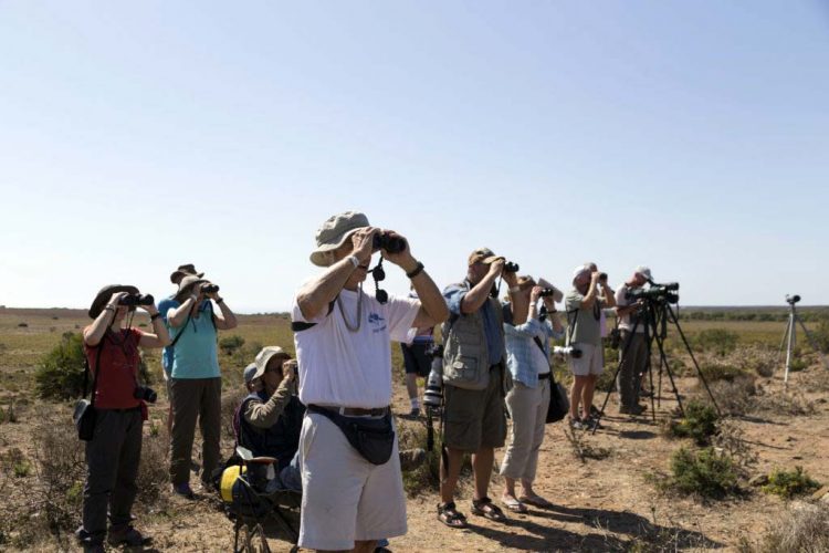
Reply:
M531 388L515 380L506 395L506 408L513 421L501 476L533 482L538 467L538 450L544 441L544 424L549 407L549 378Z

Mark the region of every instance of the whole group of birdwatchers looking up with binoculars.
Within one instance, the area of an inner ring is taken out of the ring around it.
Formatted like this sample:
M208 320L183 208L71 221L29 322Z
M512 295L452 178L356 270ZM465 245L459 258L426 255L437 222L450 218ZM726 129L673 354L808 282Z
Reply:
M574 375L569 425L597 425L591 407L604 366L606 309L616 309L622 338L630 342L617 383L620 411L643 410L637 380L646 362L644 341L641 335L629 337L638 306L629 304L626 291L650 280L648 268L637 268L613 292L595 264L579 265L573 289L564 294L543 279L518 275L504 257L481 248L469 255L463 279L441 292L408 240L371 227L361 212L330 217L315 238L311 262L321 271L300 285L291 305L296 358L276 345L256 355L243 372L248 395L234 421L239 444L255 456L276 459L273 484L301 491L300 546L371 552L378 541L407 532L390 409L391 342L401 344L406 364L411 409L403 417L418 418L417 377L428 374L432 328L442 325L447 455L436 514L453 529L466 526L454 502L464 453L471 453L474 472L472 514L506 521L502 507L517 513L527 512L527 505L550 507L533 488L555 393L550 342L565 337L583 353L568 359ZM408 294L363 289L376 253L381 254L380 263L406 273L411 283ZM497 298L499 279L507 286L505 301ZM107 285L88 311L93 322L83 330L83 341L94 375L96 417L94 435L85 444L88 470L83 523L76 532L88 551L104 551L105 541L128 546L149 541L134 528L130 512L147 419L139 349L164 348L172 491L195 498L190 474L197 422L203 490L211 489L220 468L217 333L235 327L237 316L219 286L192 264L179 267L170 281L177 290L158 306L133 285ZM556 309L562 301L566 325ZM132 326L136 306L149 314L151 328ZM489 486L495 449L506 442L507 414L511 439L501 462L505 483L499 507Z

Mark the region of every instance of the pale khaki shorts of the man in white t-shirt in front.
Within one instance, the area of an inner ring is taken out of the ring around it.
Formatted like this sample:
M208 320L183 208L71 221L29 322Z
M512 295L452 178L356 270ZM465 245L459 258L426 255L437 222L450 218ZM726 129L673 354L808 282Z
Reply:
M391 458L371 465L324 415L305 415L300 435L300 546L350 550L356 540L403 535L406 495L397 437Z

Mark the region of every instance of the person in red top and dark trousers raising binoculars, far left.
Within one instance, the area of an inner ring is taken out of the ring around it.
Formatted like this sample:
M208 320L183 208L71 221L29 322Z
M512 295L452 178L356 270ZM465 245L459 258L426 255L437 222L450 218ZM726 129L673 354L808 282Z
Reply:
M83 331L95 408L95 432L86 442L83 525L76 532L84 551L104 551L107 509L111 545L138 546L148 541L130 524L146 408L137 390L138 348L164 347L170 336L151 296L140 296L146 304L139 306L149 313L153 333L129 324L122 327L138 298L135 286L104 286L90 307L93 322Z

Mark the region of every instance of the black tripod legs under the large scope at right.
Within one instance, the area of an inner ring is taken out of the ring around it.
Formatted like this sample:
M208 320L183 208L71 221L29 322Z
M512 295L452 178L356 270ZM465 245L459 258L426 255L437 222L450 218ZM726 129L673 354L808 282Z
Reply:
M628 352L630 349L630 345L633 342L633 337L636 336L637 330L640 325L644 326L644 344L646 344L646 365L644 365L644 373L648 373L650 377L650 385L651 385L651 418L653 421L657 421L657 411L654 403L659 407L662 406L662 371L664 369L665 374L668 375L668 379L671 383L671 392L673 392L674 397L676 398L676 405L680 408L680 413L682 416L685 416L685 409L682 406L682 399L680 398L680 393L676 389L676 383L674 380L673 372L671 371L671 366L668 363L668 356L665 355L665 348L664 348L664 341L665 336L668 335L668 323L672 323L673 326L676 328L676 331L680 334L680 337L682 338L682 343L685 346L685 351L688 351L689 356L691 357L691 361L694 364L694 368L696 369L696 375L702 380L703 385L705 386L705 392L709 393L709 397L711 398L711 403L714 405L714 408L716 409L717 414L720 414L720 407L716 405L716 400L714 399L714 395L711 393L711 388L709 387L709 383L705 379L705 376L702 374L702 371L700 371L700 364L696 363L696 357L694 356L694 352L691 349L691 344L689 344L688 338L685 337L685 333L682 331L682 326L680 326L680 321L676 317L676 313L674 312L673 307L671 307L671 304L665 300L663 296L642 296L643 303L639 307L638 316L636 319L636 322L633 323L633 328L631 330L630 334L628 334L627 340L625 341L625 346L622 347L621 358L619 359L619 365L616 367L616 372L613 373L613 385L617 382L617 378L619 377L619 372L621 372L622 364L625 363L625 357L628 355ZM659 351L659 378L658 378L658 388L653 387L653 371L651 369L651 358L653 353L653 343L657 344L657 349ZM637 375L637 395L639 395L639 387L641 386L641 377L643 374ZM655 390L655 393L654 393ZM601 417L605 416L605 408L607 407L607 403L610 400L610 394L613 392L613 388L611 387L607 395L605 396L605 403L601 404L601 409L599 410L599 416L596 420L596 425L592 428L591 434L596 434L596 429L598 428L598 421L601 420ZM654 396L657 399L654 400Z

